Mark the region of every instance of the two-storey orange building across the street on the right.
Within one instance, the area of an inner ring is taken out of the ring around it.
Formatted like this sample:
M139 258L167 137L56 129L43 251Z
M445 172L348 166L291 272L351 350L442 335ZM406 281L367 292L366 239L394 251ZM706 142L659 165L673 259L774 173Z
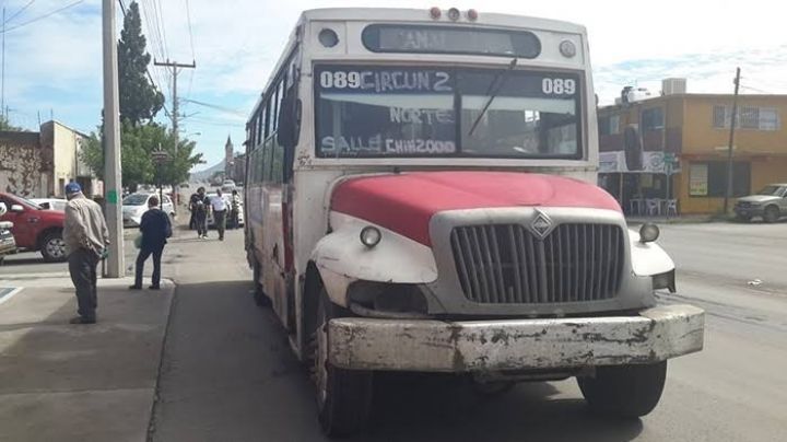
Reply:
M651 198L677 200L685 214L719 212L732 95L665 91L599 108L600 184L627 212ZM737 115L732 197L787 182L787 95L740 95Z

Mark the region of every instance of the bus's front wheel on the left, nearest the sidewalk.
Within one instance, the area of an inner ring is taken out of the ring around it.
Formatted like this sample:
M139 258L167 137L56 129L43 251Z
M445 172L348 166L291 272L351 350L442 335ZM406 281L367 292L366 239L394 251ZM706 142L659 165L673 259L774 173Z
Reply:
M328 299L325 289L321 290L317 307L318 325L309 347L319 423L329 437L356 433L366 424L372 408L372 372L339 369L328 362L328 322L349 315L348 311Z

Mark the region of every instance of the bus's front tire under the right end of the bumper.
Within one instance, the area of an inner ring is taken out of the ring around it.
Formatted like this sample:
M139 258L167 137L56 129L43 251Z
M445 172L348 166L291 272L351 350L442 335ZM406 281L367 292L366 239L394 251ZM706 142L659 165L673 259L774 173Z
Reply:
M633 419L656 408L667 379L667 361L642 365L599 367L595 376L577 377L590 410Z

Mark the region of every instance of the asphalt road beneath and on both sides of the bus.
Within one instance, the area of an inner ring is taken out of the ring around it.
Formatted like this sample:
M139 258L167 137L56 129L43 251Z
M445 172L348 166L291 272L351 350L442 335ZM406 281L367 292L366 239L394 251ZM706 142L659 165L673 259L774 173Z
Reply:
M380 375L371 428L354 440L784 441L787 223L669 225L661 243L680 272L679 293L659 298L706 309L706 348L670 362L649 416L598 419L573 380L482 398L453 376ZM173 244L165 275L178 288L153 441L324 440L306 371L273 315L254 306L242 244L240 231Z

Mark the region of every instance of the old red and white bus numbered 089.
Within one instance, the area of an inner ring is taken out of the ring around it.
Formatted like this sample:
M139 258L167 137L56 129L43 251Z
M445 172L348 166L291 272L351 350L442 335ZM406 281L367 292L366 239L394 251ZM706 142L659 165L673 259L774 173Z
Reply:
M474 10L306 11L247 124L256 300L312 364L329 434L376 371L576 376L642 416L703 312L598 188L587 33ZM637 385L632 388L631 385Z

